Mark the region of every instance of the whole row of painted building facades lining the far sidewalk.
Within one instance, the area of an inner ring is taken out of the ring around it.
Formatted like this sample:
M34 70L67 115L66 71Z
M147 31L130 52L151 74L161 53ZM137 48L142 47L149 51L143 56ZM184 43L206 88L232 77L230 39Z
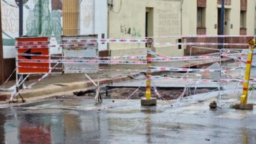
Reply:
M14 44L15 38L18 37L19 21L17 1L1 0L3 48L0 56L3 55L1 62L8 63L1 69L5 79L15 69ZM24 2L24 35L47 36L55 41L58 41L61 35L98 34L99 39L154 37L154 43L219 43L218 39L181 39L179 36L219 35L221 32L221 0ZM255 34L255 0L225 0L224 5L224 35ZM225 40L226 43L246 42L246 39ZM100 53L105 56L140 52L145 50L145 47L144 43L99 44ZM188 54L188 46L155 46L152 50L167 56ZM55 48L51 50L51 54L60 54L60 50Z

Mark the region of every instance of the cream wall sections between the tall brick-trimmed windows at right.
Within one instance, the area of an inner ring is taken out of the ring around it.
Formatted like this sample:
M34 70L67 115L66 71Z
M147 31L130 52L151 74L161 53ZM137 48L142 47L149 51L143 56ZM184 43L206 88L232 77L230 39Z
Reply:
M207 0L205 8L205 27L207 35L218 34L217 0ZM246 12L247 35L254 34L255 28L255 0L247 0ZM240 35L240 0L232 0L231 5L225 5L225 35ZM216 27L216 26L217 27ZM184 0L182 5L182 35L196 35L197 0Z

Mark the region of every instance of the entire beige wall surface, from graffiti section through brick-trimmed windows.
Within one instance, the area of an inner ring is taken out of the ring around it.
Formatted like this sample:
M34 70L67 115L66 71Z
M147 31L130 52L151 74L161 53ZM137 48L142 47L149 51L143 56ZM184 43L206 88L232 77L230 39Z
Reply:
M146 10L152 12L148 26L152 31L149 37L172 35L197 35L197 0L115 0L114 7L109 8L108 37L137 38L145 37ZM207 0L205 7L206 35L218 34L217 0ZM240 0L232 0L225 5L225 35L240 35ZM247 35L255 33L255 0L247 0L246 27ZM154 43L177 42L177 38L154 38ZM165 46L152 48L155 52L167 56L182 56L184 48ZM110 43L112 56L120 56L129 52L146 50L144 43Z

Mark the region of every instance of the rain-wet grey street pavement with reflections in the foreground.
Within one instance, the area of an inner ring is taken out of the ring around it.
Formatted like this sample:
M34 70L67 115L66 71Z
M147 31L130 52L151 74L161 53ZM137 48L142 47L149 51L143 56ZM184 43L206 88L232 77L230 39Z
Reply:
M233 92L233 93L232 93ZM255 143L256 111L209 109L218 92L142 107L139 100L47 99L0 105L0 143Z

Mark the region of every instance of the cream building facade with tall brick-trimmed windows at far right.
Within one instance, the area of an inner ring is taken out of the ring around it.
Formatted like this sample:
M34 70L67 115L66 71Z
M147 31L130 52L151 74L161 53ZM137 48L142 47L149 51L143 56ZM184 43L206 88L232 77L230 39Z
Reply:
M225 0L224 5L224 35L254 35L255 1ZM221 0L184 0L183 35L219 35L220 21Z

